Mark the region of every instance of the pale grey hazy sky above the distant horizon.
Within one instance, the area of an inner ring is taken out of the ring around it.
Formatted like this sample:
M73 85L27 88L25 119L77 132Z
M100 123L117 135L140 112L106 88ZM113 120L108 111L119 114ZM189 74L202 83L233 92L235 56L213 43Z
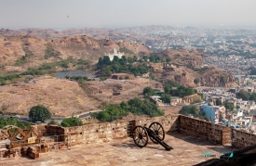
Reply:
M256 26L256 0L0 0L0 28L143 25Z

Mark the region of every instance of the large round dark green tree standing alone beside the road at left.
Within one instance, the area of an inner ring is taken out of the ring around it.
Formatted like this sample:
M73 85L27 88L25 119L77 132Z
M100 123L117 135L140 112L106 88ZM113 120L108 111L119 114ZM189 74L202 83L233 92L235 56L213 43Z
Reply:
M46 107L38 105L30 109L29 117L32 121L46 121L51 118L51 114Z

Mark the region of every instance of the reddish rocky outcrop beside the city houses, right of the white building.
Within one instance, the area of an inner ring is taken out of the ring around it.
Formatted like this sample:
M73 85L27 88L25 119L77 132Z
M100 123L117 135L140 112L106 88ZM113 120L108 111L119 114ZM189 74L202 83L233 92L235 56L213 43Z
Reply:
M165 50L156 54L160 57L171 57L171 65L164 66L161 72L155 72L155 77L167 82L173 80L184 86L222 86L235 87L235 77L232 73L218 70L214 67L203 67L204 62L198 51ZM204 55L205 56L205 55Z

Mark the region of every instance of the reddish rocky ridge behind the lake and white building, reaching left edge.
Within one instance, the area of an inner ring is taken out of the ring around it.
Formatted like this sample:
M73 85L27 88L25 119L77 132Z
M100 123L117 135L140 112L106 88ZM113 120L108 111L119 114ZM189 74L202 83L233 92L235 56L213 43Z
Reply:
M43 63L74 57L84 58L94 63L104 54L112 53L114 48L126 48L126 56L149 55L151 50L141 44L115 42L111 39L96 40L87 35L68 36L56 39L42 39L31 35L0 37L1 71L26 70ZM14 68L15 67L15 68ZM4 69L4 70L3 70Z

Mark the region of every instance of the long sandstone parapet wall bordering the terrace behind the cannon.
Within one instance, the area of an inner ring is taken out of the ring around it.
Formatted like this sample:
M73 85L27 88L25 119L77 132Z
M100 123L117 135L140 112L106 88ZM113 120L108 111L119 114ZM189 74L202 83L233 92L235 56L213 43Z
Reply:
M154 121L160 122L166 133L178 131L223 146L232 145L236 148L242 148L256 144L256 134L248 134L219 124L201 121L183 115L168 115L154 118L131 116L128 117L126 121L88 124L67 128L59 126L37 126L36 130L37 134L46 136L70 135L60 136L58 141L67 141L67 139L69 139L71 146L74 146L85 143L108 142L116 138L125 138L128 137L128 135L132 135L135 126L141 125L149 127Z

